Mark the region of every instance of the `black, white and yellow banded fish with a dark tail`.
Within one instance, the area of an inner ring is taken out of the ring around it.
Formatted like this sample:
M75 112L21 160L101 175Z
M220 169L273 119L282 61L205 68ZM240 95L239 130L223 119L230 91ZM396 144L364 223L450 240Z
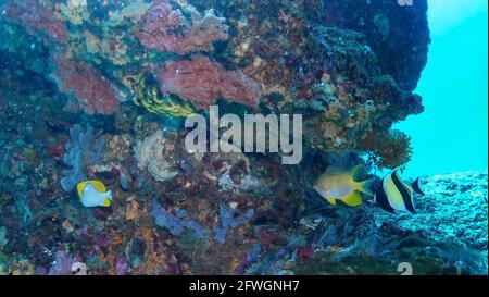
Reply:
M412 185L409 185L399 176L400 169L394 169L383 178L381 187L375 191L374 202L389 212L409 211L416 213L414 193L425 195L419 188L419 177Z

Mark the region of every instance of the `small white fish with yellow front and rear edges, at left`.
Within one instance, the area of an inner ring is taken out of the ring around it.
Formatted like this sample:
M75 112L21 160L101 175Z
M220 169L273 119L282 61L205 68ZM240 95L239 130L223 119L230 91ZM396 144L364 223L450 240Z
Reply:
M112 201L112 191L106 190L105 186L98 181L82 182L76 186L82 205L87 208L110 207Z

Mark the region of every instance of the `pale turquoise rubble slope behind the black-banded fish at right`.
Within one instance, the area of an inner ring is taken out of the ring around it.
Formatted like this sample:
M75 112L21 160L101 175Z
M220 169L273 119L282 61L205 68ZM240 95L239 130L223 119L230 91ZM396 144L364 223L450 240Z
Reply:
M487 172L462 172L421 178L426 196L417 197L417 214L376 212L403 228L425 231L437 240L454 240L487 252Z

